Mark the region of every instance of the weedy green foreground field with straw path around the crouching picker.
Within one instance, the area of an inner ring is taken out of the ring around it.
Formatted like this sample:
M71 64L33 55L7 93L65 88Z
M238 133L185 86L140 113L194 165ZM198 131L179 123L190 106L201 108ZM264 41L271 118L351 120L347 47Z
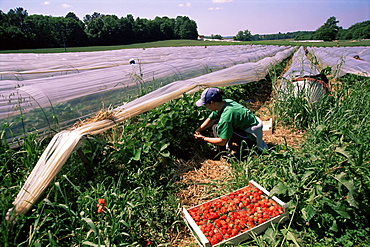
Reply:
M278 86L291 63L270 68L265 80L222 87L229 98L253 99L248 107L263 120L274 119L274 133L264 138L269 151L215 157L191 138L208 115L194 106L200 93L184 94L87 136L14 225L5 215L50 138L30 133L11 149L4 136L11 123L4 124L1 245L197 246L179 209L255 180L287 203L290 218L240 246L366 246L370 79L336 78L334 68L322 67L330 94L315 103L304 95L283 100Z

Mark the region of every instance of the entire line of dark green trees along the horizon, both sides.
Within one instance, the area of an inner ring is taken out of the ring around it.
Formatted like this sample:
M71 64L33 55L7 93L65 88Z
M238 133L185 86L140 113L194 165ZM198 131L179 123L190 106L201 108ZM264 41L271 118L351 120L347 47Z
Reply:
M239 31L233 38L240 41L258 40L350 40L370 39L370 20L356 23L348 29L330 17L316 31L252 35L249 30ZM0 10L0 50L76 47L92 45L125 45L170 39L197 39L195 21L187 16L155 17L154 20L104 15L94 12L80 20L73 12L65 17L28 15L21 7L8 13ZM222 39L221 35L212 38Z

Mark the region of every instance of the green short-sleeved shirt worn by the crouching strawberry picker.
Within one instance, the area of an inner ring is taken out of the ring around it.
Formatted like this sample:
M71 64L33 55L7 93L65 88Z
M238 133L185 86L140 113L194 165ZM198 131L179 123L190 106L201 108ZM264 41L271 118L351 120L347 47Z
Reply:
M258 124L257 118L248 108L231 99L225 99L224 101L226 103L221 111L213 111L209 115L212 120L219 119L218 137L230 139L233 136L234 129L246 130Z

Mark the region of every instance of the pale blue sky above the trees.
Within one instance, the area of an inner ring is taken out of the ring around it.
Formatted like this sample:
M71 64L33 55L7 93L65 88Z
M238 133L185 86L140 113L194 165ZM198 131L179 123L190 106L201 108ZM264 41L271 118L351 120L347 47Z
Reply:
M199 34L235 36L314 31L335 16L338 25L370 20L370 0L0 0L0 10L23 7L29 15L65 16L74 12L81 20L99 12L125 17L188 16Z

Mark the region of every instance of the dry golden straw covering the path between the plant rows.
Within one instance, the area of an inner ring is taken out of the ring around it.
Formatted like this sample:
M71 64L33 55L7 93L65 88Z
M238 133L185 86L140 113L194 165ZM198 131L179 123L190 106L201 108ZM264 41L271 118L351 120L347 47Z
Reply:
M251 109L261 120L266 121L273 118L271 114L271 84L263 82L261 90L253 96L253 102L248 103ZM276 144L286 144L290 147L298 148L304 137L303 131L296 131L286 126L273 126L271 135L264 135L263 139L269 147ZM230 180L231 166L226 159L209 159L202 154L197 154L188 161L178 161L179 181L181 191L177 194L182 206L186 208L202 204L214 198L214 191L222 190L222 183ZM227 191L225 192L225 194ZM179 211L179 214L181 212ZM188 228L175 236L171 243L173 246L198 246Z

